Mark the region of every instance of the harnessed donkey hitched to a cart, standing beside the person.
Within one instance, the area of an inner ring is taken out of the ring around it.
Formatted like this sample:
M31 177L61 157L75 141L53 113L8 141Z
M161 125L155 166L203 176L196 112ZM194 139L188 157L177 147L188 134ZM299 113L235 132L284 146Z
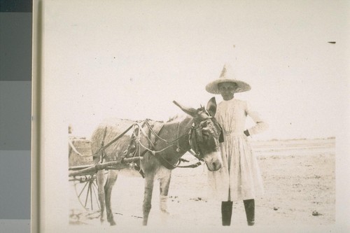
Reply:
M155 140L150 141L148 136L141 134L136 144L142 145L135 149L138 155L143 155L143 160L136 164L144 176L144 204L143 225L147 225L148 215L151 211L151 199L155 178L160 181L160 210L167 212L167 195L172 174L181 156L193 149L197 158L204 160L209 171L221 168L221 152L219 150L219 138L222 136L221 126L214 115L216 113L215 98L208 101L207 109L204 107L186 108L174 101L182 111L187 113L186 118L174 118L168 122L151 122L153 128L161 128ZM102 123L94 130L91 137L92 153L97 155L95 161L104 162L120 160L125 157L125 152L130 149L130 143L134 134L122 136L111 146L101 150L104 143L109 143L120 135L128 126L134 124L132 120L115 119L113 122ZM146 127L142 127L145 129ZM153 131L150 129L150 131ZM150 132L148 131L148 132ZM153 152L153 153L152 153ZM128 165L125 165L127 167ZM129 165L130 166L130 165ZM123 169L123 167L120 167ZM118 170L109 169L108 176L105 171L97 171L97 185L100 202L101 217L104 221L104 208L106 205L107 220L111 225L116 225L111 210L111 191L118 177ZM106 178L106 181L105 181Z

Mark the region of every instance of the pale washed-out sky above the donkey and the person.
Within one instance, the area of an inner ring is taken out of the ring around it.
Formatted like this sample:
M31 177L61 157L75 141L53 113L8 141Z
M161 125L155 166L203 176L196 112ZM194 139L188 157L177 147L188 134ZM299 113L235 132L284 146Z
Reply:
M349 1L45 1L45 108L87 137L104 118L167 120L173 100L206 105L229 63L252 86L235 98L269 123L255 139L337 136L348 15Z

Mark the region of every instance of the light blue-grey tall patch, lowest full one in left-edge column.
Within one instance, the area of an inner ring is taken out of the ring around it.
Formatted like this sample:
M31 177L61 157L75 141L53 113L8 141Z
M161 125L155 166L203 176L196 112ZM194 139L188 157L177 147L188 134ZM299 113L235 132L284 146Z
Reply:
M0 150L0 219L30 218L30 150Z

